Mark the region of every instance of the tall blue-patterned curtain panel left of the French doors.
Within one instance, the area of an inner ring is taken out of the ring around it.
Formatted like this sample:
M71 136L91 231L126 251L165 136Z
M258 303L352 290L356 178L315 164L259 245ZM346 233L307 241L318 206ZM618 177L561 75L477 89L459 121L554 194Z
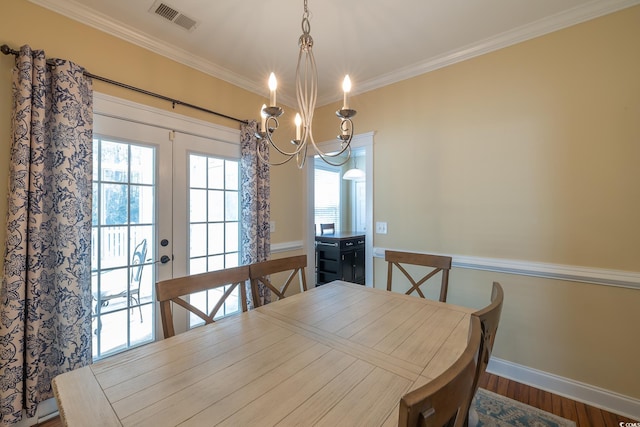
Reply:
M0 293L0 424L35 415L51 380L91 363L91 81L20 49Z

